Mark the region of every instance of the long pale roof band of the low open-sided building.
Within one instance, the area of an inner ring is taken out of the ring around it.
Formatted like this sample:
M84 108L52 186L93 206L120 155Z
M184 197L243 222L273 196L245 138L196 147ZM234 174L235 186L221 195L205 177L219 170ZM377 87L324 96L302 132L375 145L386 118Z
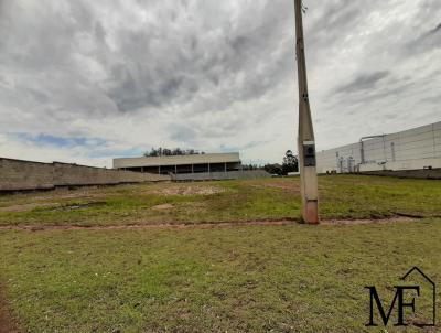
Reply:
M114 169L207 163L240 163L240 158L238 152L172 157L120 158L114 159Z

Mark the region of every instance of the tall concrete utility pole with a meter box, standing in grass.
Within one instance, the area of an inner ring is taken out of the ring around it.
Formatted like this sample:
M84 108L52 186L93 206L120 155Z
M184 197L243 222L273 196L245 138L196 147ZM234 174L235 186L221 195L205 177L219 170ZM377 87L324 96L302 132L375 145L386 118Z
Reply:
M315 162L315 141L308 96L306 62L302 22L302 0L294 0L297 64L299 75L299 171L302 195L302 216L309 224L319 223L319 190Z

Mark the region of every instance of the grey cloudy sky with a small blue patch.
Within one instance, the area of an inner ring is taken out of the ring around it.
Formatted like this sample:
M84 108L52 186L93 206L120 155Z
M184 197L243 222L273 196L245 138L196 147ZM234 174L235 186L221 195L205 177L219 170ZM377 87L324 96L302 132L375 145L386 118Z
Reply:
M440 0L305 0L318 149L441 120ZM292 0L0 0L0 157L295 149Z

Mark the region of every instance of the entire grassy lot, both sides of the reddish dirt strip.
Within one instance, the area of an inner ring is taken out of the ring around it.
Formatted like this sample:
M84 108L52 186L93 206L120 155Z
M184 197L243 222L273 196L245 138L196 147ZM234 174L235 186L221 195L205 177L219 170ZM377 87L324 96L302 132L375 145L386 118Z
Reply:
M106 228L297 219L293 179L7 195L0 197L3 226L104 228L0 229L2 291L25 332L386 332L364 325L364 287L375 284L389 305L390 286L413 266L441 281L441 182L323 176L320 191L325 218L423 218ZM422 299L429 309L428 294ZM387 332L422 330L390 325Z

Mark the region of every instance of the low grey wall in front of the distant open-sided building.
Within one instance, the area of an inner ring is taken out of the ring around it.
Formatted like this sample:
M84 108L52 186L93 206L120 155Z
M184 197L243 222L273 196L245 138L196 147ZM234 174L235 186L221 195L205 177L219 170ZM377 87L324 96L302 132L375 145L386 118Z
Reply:
M173 181L209 181L209 180L237 180L237 179L256 179L270 176L263 170L245 170L228 172L202 172L202 173L179 173L172 174Z

